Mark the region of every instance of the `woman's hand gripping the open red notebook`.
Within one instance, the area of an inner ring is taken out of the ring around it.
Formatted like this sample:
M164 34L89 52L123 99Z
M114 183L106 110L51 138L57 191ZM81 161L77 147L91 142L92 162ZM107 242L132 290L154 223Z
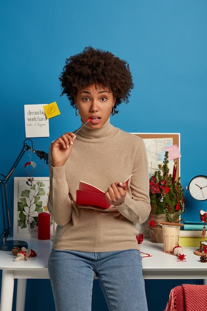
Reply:
M114 206L119 206L124 203L126 195L126 182L115 182L114 184L111 184L111 186L105 192L105 198L107 202Z

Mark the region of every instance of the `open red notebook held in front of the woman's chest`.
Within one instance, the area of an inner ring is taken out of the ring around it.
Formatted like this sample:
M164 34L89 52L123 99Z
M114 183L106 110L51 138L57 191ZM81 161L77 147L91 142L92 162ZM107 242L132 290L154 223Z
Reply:
M125 181L127 186L132 175ZM76 203L80 205L93 205L108 209L111 204L106 201L104 193L104 191L98 189L97 187L84 181L80 181L79 189L76 190Z

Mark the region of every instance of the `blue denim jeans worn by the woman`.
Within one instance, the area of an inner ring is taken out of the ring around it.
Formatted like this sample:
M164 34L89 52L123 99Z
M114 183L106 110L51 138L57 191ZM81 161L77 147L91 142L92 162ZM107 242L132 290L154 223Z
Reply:
M94 273L110 311L147 311L141 260L135 249L52 250L48 269L56 311L91 311Z

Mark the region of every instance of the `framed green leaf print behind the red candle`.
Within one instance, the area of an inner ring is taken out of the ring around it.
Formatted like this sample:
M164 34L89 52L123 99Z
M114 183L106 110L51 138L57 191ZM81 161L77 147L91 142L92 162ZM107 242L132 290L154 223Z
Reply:
M38 237L38 214L48 213L49 177L14 177L14 237ZM51 236L56 224L51 218Z

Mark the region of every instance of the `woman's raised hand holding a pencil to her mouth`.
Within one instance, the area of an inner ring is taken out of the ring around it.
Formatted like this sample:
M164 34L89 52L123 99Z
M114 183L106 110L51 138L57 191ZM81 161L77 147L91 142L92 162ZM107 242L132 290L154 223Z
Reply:
M67 132L52 143L51 156L53 167L65 165L71 154L75 137L73 133Z

